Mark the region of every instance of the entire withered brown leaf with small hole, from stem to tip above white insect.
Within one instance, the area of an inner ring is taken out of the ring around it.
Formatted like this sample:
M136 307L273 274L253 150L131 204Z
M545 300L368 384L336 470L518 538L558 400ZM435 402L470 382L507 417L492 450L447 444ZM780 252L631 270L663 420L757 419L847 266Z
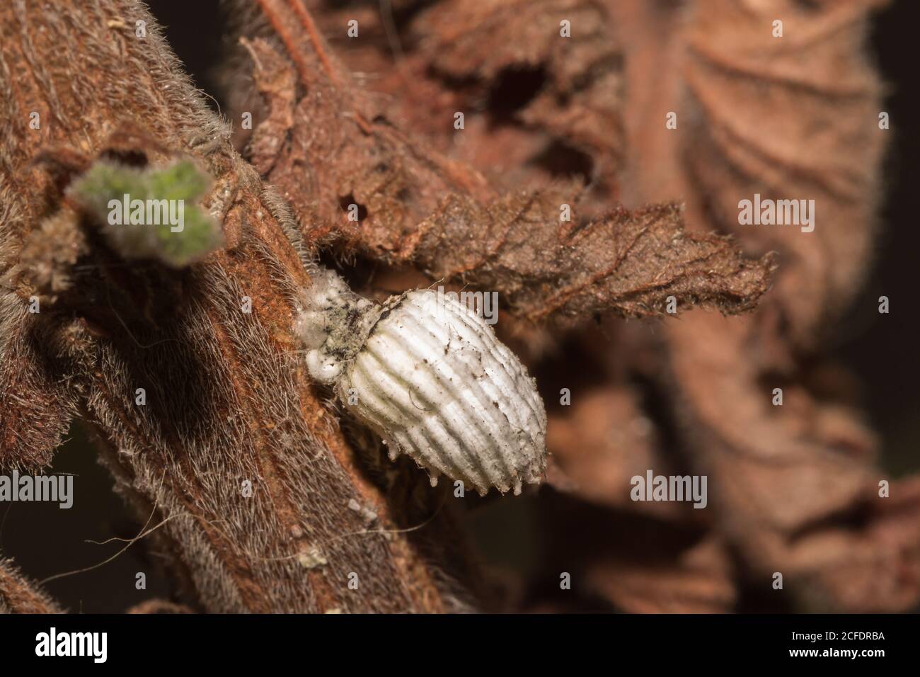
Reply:
M497 290L530 320L659 314L669 296L682 307L741 312L769 285L771 257L750 261L730 240L685 234L674 206L569 221L563 205L577 209L575 195L493 191L473 169L427 152L389 123L328 54L312 19L280 0L263 9L285 30L248 45L257 88L287 108L290 97L274 83L286 82L289 70L305 94L292 127L279 129L270 114L254 138L264 144L276 135L279 157L262 164L308 240ZM349 220L351 204L364 210L360 222Z

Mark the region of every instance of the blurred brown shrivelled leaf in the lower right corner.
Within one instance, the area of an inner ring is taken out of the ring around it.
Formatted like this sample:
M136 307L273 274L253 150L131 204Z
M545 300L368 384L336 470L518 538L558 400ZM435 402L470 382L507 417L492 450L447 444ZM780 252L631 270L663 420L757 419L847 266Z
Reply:
M914 478L880 497L874 437L852 409L776 381L745 358L753 318L690 313L668 327L672 387L692 431L719 528L767 589L781 572L798 604L850 613L920 600Z

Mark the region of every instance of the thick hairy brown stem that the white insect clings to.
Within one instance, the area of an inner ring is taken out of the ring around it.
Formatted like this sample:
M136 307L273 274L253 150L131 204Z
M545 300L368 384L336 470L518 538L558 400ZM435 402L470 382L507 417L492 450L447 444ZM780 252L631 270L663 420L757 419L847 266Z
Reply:
M0 273L13 288L0 293L16 309L0 332L3 465L47 462L78 410L104 441L119 491L161 525L183 596L202 610L466 608L463 584L443 573L459 546L431 543L458 543L449 507L413 491L417 474L368 474L309 383L291 333L298 289L310 284L305 245L181 75L155 20L126 0L54 11L18 0L0 7L0 27L0 196L13 205L0 222ZM30 111L40 129L29 128ZM86 216L62 220L86 234L87 250L68 288L27 317L36 262L22 259L23 243L59 212L70 178L63 161L35 162L49 150L62 160L194 158L214 178L203 204L226 249L180 271L126 265L93 239ZM45 419L54 426L10 432ZM385 484L403 487L390 491L396 500ZM374 523L350 504L372 508ZM426 519L423 531L400 531ZM457 576L464 561L453 558Z

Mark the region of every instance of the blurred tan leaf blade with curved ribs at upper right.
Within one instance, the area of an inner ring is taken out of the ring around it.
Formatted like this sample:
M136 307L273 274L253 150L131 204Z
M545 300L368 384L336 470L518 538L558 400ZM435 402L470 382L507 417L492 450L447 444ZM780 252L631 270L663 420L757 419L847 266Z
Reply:
M878 4L760 9L710 0L684 35L688 172L714 196L714 225L737 233L748 251L782 253L775 300L799 344L811 344L845 308L871 257L890 133L879 129L878 78L854 45L866 32L866 8ZM785 29L778 40L763 29L777 12ZM739 226L738 202L754 193L814 200L814 232Z

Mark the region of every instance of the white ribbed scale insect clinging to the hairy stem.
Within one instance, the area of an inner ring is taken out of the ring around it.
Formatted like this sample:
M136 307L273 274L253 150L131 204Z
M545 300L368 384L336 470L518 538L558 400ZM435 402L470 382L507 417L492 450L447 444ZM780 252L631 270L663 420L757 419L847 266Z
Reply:
M546 471L546 410L535 379L476 313L417 289L383 304L332 271L307 290L296 331L313 379L431 474L521 493Z

